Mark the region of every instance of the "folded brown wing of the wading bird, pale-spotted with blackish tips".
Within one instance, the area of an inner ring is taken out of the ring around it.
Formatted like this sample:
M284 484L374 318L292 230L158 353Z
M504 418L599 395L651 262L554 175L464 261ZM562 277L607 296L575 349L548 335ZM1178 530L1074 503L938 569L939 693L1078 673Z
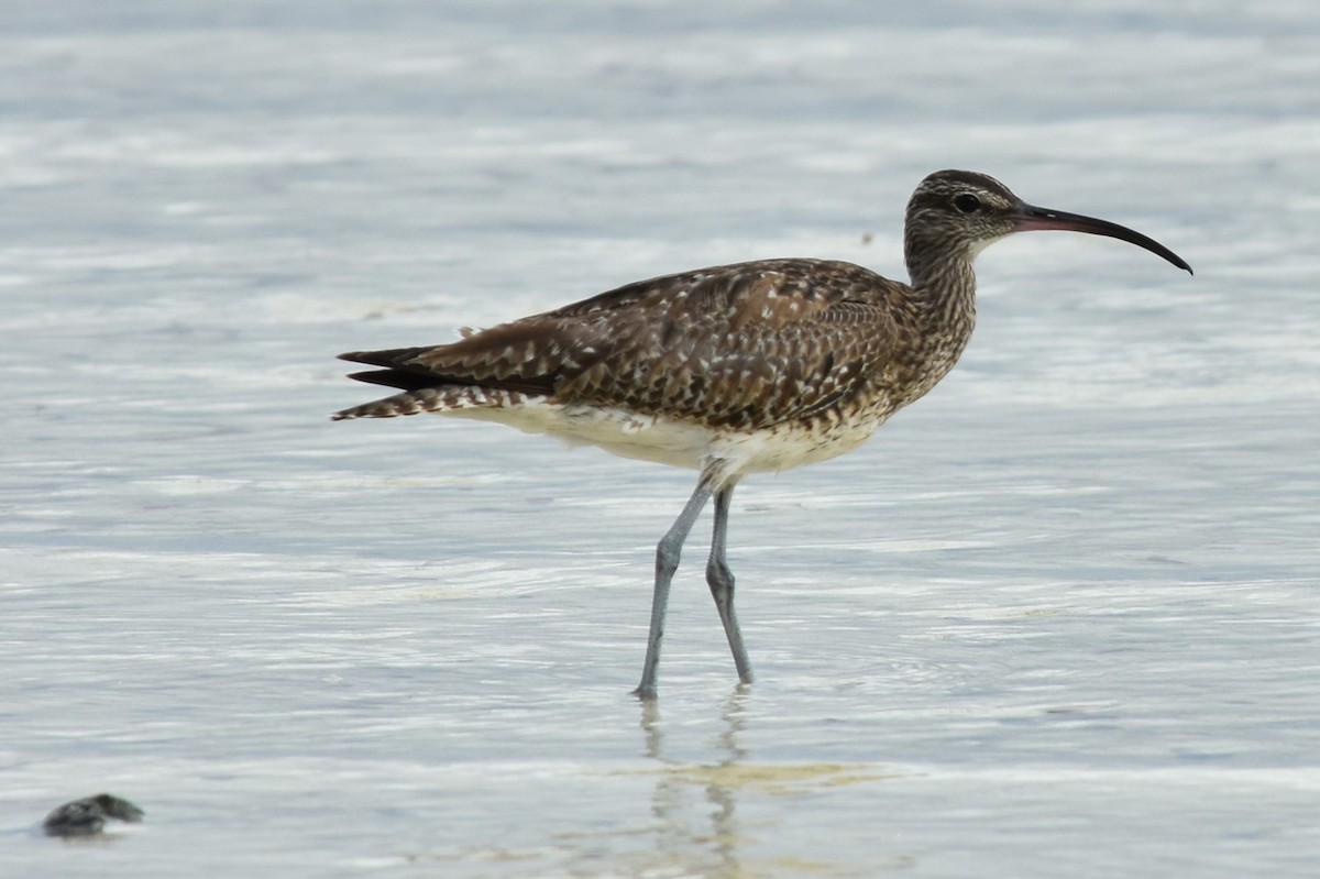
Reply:
M709 425L810 417L891 355L899 285L858 265L742 263L639 281L430 348L341 355L405 389L470 384Z

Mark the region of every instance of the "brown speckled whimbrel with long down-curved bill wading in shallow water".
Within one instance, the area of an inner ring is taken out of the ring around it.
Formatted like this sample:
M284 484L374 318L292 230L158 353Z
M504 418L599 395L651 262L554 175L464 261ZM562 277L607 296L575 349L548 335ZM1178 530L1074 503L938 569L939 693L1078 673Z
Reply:
M351 377L400 393L334 418L434 412L696 469L697 488L656 548L651 630L634 693L656 696L669 583L711 498L706 582L738 677L750 682L725 560L734 487L752 472L857 449L933 388L972 337L977 253L1030 230L1117 238L1192 271L1130 228L1034 207L985 174L942 170L921 181L907 206L911 284L813 259L638 281L450 344L342 354L380 367Z

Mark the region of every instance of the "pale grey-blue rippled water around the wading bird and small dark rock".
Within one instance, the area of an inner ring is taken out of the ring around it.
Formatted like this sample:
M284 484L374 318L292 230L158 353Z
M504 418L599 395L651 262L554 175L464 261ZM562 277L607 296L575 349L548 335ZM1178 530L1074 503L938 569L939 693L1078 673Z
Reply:
M962 364L750 479L333 355L652 275L903 276L928 172L1150 234L987 251ZM1320 5L0 7L0 875L1313 876ZM147 824L37 830L110 791Z

